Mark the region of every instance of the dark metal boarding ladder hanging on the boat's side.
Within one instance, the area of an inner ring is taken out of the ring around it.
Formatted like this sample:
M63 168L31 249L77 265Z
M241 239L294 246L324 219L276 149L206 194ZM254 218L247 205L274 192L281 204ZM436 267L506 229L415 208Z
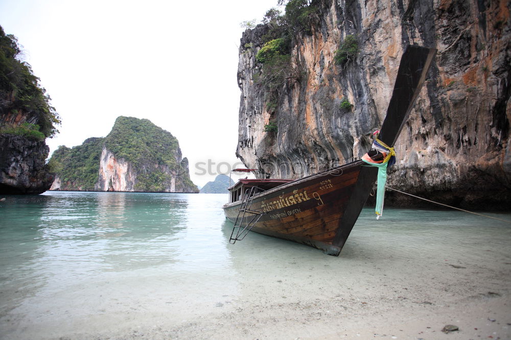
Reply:
M254 196L263 191L263 189L258 187L252 187L245 191L238 217L236 218L236 222L234 222L233 232L230 233L230 244L235 244L236 241L243 240L255 223L263 216L263 212L252 210L251 207Z

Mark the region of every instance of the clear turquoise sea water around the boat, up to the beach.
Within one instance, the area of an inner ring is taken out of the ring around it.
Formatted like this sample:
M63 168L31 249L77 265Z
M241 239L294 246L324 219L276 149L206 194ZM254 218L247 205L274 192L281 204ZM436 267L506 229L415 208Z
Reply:
M317 294L330 270L353 273L341 276L355 286L373 279L358 272L367 266L411 277L419 274L403 264L432 271L444 261L511 268L505 222L397 209L377 221L364 209L341 256L333 257L254 233L230 245L226 200L215 194L8 196L0 202L0 337L156 324L164 315L165 322L180 323L271 294L275 301L303 299L298 294ZM290 283L284 290L283 275Z

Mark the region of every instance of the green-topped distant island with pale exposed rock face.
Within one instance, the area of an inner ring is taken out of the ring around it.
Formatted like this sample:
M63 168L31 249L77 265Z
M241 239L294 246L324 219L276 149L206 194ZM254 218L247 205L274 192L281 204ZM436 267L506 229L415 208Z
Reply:
M50 190L197 193L179 142L148 119L118 117L105 138L60 146Z

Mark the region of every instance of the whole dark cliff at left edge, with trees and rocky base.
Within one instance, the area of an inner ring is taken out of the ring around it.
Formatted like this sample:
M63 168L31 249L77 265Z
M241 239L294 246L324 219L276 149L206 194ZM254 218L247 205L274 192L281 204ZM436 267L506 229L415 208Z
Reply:
M57 133L60 118L21 55L0 26L0 194L40 194L53 181L44 140Z

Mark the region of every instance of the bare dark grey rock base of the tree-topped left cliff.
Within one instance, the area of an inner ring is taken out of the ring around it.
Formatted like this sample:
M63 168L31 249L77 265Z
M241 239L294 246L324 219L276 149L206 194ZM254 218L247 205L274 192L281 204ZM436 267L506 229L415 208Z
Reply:
M54 176L45 164L50 148L44 141L0 135L0 193L40 194L52 185Z

